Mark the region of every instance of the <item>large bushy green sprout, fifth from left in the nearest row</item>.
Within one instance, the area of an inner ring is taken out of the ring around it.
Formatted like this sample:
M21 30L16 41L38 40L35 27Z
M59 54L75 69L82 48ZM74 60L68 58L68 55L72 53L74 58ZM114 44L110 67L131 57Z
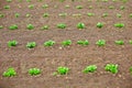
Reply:
M117 74L118 73L118 65L114 65L114 64L107 64L105 69L107 72L110 72L112 74Z

